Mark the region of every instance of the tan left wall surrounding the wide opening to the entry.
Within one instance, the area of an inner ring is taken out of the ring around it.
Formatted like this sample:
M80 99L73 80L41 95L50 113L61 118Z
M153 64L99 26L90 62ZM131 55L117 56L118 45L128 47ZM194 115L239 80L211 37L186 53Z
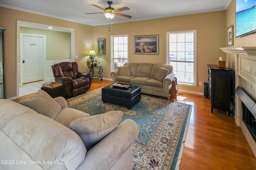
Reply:
M14 98L17 95L17 76L19 76L16 64L17 20L74 29L74 55L78 56L75 61L80 64L82 71L87 70L85 57L92 49L92 26L0 7L0 27L6 29L4 31L6 98Z

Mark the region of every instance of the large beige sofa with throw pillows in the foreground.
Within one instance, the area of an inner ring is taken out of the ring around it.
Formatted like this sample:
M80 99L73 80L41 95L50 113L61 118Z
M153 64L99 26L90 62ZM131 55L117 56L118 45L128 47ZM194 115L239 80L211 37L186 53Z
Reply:
M43 90L22 101L0 99L0 169L132 169L139 128L130 119L118 125L121 111L90 116Z

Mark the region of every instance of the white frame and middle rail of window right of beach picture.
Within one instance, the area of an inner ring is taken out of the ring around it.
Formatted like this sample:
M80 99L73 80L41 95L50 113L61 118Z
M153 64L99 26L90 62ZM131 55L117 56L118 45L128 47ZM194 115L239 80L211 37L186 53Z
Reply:
M169 57L169 34L172 33L189 33L193 32L194 33L194 62L186 62L186 61L180 61L180 62L185 62L185 63L194 63L194 83L188 83L188 82L180 82L179 78L177 77L177 82L178 84L182 84L184 86L197 86L197 31L196 30L188 30L188 31L169 31L166 32L166 64L170 64L171 60ZM173 61L172 61L173 62ZM175 75L177 76L177 75Z

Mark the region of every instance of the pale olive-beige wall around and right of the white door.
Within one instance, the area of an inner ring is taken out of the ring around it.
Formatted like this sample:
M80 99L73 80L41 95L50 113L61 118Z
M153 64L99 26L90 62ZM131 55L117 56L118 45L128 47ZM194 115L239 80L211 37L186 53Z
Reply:
M71 33L20 27L20 33L46 35L46 61L71 59Z

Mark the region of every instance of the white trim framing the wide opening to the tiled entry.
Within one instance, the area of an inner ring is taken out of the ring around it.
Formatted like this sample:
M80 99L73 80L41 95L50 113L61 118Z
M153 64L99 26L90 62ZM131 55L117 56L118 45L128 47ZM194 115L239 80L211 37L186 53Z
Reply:
M30 27L30 28L38 28L38 29L47 29L52 31L62 31L71 33L71 61L75 61L75 52L74 52L74 41L75 41L75 30L72 28L58 27L54 25L46 25L41 23L33 23L27 21L19 21L17 20L17 41L16 41L16 98L19 98L19 85L20 85L20 26L22 27ZM53 27L53 29L49 29L48 27ZM46 70L46 64L44 66L44 70ZM46 75L46 74L44 74Z

